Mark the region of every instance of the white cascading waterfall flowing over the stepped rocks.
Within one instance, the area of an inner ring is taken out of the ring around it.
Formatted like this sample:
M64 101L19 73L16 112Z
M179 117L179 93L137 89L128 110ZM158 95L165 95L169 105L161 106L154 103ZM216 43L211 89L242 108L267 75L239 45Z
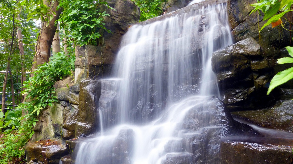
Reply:
M214 157L219 145L213 143L218 144L229 121L221 101L211 97L219 97L211 57L232 39L226 3L209 2L129 29L114 78L100 80L99 132L77 146L75 163L219 160ZM210 139L212 134L217 137Z

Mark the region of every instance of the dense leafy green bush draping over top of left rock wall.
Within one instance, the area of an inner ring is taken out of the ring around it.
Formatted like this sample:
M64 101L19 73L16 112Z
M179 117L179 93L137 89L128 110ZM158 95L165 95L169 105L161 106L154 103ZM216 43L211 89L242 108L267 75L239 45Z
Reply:
M110 6L106 2L94 0L62 0L59 7L63 8L59 22L64 28L69 40L75 45L97 45L104 31L110 32L103 23L104 17L109 16L105 11L97 9L98 6Z

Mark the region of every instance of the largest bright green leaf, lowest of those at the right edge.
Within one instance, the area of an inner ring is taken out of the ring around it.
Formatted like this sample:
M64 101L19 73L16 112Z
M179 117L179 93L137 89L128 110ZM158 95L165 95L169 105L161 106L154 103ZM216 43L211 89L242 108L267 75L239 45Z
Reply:
M281 84L286 83L287 81L293 78L293 67L286 69L284 71L278 72L270 83L270 87L268 89L267 95L269 95L274 88L280 86Z

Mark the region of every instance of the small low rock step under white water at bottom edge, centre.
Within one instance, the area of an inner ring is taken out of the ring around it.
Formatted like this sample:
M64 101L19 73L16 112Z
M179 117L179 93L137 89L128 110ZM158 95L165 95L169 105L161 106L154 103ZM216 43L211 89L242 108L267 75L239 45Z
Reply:
M192 156L188 152L170 153L162 164L193 164Z

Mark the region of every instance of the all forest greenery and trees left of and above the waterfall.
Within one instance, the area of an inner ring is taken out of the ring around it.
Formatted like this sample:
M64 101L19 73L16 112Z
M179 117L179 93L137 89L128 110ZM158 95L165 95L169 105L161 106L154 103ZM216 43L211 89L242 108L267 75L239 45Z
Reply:
M166 0L133 1L141 10L140 21L161 15L166 4ZM73 78L75 46L97 45L103 32L110 32L103 23L109 16L107 8L105 1L94 0L0 1L3 103L18 105L0 112L0 163L25 161L24 146L34 134L37 116L57 101L53 84L64 76ZM57 39L61 42L57 52L51 47L55 32L63 38Z

